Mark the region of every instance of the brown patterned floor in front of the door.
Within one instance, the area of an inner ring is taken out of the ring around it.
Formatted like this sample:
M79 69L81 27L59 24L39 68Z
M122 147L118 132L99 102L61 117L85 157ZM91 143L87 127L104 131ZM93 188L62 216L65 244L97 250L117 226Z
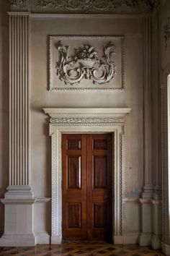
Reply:
M161 256L161 250L139 247L136 244L114 245L106 242L63 242L58 245L35 247L0 247L0 255L16 256Z

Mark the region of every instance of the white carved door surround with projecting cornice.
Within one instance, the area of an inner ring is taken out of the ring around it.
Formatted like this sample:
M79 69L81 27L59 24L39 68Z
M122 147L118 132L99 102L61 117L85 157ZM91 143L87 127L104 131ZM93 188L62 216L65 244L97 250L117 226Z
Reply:
M50 116L52 161L51 244L62 241L61 135L62 133L107 133L114 135L113 241L122 241L122 135L130 108L43 108Z

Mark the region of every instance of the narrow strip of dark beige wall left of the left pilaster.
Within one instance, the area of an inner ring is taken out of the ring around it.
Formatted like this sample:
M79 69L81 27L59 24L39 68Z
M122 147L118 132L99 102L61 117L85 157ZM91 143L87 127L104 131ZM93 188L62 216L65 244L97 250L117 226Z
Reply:
M9 177L8 17L6 12L6 1L0 0L0 197L4 197ZM3 229L4 207L0 205L0 233Z

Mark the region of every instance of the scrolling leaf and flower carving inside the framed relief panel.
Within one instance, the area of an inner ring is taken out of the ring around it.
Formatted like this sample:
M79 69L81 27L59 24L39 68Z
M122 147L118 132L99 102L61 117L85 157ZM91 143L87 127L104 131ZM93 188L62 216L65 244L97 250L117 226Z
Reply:
M116 65L112 60L115 46L110 42L104 47L104 56L99 60L93 46L84 45L75 49L75 56L68 56L69 46L58 45L59 61L56 65L57 74L66 85L81 82L83 78L90 79L94 84L104 84L115 77Z

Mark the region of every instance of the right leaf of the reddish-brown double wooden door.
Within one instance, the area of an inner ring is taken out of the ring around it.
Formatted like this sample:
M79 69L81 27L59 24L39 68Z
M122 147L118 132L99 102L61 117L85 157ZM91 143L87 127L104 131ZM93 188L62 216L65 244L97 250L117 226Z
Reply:
M87 150L87 236L112 236L112 135L89 135Z

